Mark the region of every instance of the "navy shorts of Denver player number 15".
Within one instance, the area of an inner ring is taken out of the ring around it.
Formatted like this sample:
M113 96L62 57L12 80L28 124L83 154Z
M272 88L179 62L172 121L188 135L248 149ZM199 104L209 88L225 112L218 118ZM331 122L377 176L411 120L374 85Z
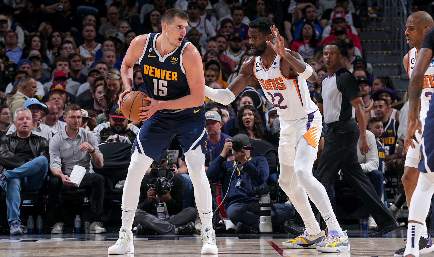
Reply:
M135 138L132 153L135 148L159 165L169 148L174 136L178 136L184 153L201 145L202 152L207 153L207 131L205 129L204 106L188 108L182 112L168 114L155 112L145 120Z

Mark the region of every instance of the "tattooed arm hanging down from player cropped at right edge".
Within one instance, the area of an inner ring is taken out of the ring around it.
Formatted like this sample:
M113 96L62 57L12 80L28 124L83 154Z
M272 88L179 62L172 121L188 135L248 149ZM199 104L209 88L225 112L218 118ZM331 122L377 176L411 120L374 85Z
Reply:
M418 58L414 64L414 69L411 74L410 83L408 84L408 127L405 135L404 147L414 148L414 139L416 142L416 130L419 134L422 133L422 124L419 119L420 106L421 106L421 93L424 85L424 74L433 58L433 51L429 48L421 48L418 53Z

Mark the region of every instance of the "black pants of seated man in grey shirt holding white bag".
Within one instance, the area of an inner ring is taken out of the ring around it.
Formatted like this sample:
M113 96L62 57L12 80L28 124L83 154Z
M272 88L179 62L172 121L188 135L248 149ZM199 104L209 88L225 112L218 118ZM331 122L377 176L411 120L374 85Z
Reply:
M62 222L62 191L77 190L85 187L92 189L90 198L92 218L90 219L90 223L101 220L102 202L104 200L104 177L97 173L86 173L79 187L65 186L59 177L52 177L48 181L49 204L54 215L53 224Z

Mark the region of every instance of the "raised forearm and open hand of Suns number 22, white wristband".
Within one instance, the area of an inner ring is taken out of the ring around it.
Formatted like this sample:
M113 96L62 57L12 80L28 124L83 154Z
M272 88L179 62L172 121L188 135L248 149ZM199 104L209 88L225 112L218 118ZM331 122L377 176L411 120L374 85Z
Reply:
M302 78L306 79L310 83L316 82L318 75L316 74L315 70L313 70L309 64L306 64L303 61L299 53L294 51L286 51L286 48L283 45L284 39L283 36L280 35L279 29L276 29L274 25L273 27L270 27L270 29L273 32L274 38L276 39L276 44L273 45L273 43L270 41L267 41L267 44L273 48L276 54L288 61L294 67L294 70L300 76L302 76Z

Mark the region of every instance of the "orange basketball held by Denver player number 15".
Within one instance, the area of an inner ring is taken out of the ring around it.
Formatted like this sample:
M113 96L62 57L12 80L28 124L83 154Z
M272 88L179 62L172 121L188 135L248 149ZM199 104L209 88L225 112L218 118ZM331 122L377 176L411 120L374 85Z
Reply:
M145 100L147 94L141 91L132 91L124 96L122 99L122 113L125 118L133 122L141 122L143 119L138 116L140 112L146 110L139 110L140 107L149 106L151 102Z

